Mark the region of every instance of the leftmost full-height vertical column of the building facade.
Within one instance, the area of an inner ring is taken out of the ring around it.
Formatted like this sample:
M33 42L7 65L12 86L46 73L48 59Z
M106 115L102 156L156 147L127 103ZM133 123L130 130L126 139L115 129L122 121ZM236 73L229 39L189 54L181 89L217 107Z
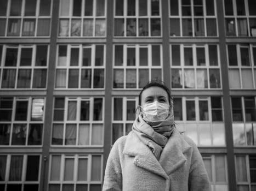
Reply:
M58 17L59 17L59 0L53 0L52 11L52 26L50 34L50 53L49 53L49 68L47 81L47 95L45 104L45 119L43 131L43 153L42 153L42 170L40 189L47 190L48 186L48 171L49 171L49 150L50 150L50 135L52 129L52 112L53 112L53 91L54 91L54 74L55 74L55 57L56 57L56 39L58 33Z

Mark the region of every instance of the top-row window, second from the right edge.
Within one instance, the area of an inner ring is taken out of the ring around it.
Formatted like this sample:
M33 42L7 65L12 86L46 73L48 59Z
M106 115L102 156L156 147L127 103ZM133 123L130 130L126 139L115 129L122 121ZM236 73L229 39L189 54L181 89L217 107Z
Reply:
M170 0L170 37L217 36L214 0Z

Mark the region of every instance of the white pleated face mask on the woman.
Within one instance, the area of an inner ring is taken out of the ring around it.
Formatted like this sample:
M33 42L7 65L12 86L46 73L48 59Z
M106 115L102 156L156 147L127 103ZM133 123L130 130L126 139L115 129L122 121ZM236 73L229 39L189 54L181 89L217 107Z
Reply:
M141 106L142 115L149 121L165 120L169 115L169 104L157 101Z

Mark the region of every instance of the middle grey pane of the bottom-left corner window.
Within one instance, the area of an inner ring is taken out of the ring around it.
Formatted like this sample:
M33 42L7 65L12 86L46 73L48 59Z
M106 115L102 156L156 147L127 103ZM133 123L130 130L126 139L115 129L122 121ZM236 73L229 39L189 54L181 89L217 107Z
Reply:
M23 156L12 156L10 160L9 181L21 181L22 164Z

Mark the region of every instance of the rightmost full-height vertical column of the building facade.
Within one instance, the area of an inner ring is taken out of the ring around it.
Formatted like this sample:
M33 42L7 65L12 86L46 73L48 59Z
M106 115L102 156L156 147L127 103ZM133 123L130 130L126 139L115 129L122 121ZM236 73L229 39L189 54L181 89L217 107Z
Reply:
M224 108L224 121L225 121L225 135L226 135L226 148L227 148L227 172L229 181L229 190L236 190L236 171L235 171L235 158L234 158L234 143L232 133L232 117L231 117L231 104L229 94L229 75L227 66L227 51L225 39L225 18L223 1L217 0L217 15L219 25L219 47L220 47L220 68L223 87L223 108Z

